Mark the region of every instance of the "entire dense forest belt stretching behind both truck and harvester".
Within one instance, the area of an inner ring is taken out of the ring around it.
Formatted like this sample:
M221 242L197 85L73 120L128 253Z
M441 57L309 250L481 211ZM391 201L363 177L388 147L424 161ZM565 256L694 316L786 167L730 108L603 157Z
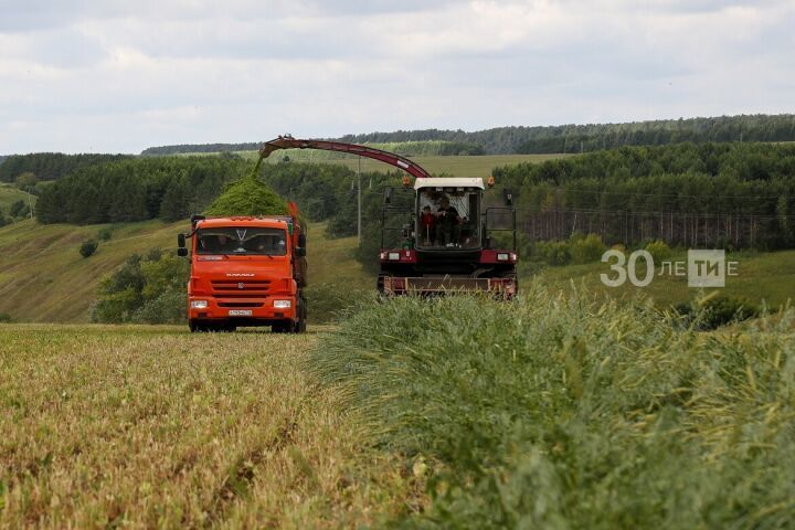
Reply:
M155 157L83 168L45 187L41 222L104 223L184 219L251 170L239 157ZM689 247L795 246L795 145L762 142L623 147L543 163L496 168L498 189L517 195L526 241L598 234L608 244L662 240ZM357 174L336 165L279 162L262 179L298 202L331 236L357 231ZM362 173L363 242L372 263L381 198L399 173ZM409 219L390 220L399 227Z

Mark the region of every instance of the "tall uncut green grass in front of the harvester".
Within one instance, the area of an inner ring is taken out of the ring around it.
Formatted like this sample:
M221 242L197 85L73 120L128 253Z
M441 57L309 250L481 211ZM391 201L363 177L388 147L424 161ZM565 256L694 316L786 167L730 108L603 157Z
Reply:
M650 305L533 287L402 298L312 362L427 475L428 528L792 528L793 312L678 330Z

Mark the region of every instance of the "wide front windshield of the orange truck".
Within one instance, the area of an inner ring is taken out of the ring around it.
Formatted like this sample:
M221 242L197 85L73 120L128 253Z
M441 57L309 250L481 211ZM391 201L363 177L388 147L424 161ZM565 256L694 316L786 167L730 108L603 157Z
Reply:
M237 256L284 256L287 235L280 229L233 226L197 231L198 254L234 254Z

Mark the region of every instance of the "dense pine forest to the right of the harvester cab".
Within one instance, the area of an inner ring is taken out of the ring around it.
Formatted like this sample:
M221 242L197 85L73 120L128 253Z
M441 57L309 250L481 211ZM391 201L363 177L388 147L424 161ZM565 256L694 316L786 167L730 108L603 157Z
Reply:
M795 246L795 146L624 147L494 172L530 240L596 233L690 247Z

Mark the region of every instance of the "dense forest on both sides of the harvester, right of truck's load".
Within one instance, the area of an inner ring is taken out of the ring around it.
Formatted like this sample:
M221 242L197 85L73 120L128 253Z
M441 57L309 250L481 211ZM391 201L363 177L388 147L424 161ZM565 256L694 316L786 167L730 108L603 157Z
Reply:
M581 157L497 168L497 188L518 197L523 241L598 234L627 245L661 240L690 247L795 246L795 146L679 144L624 147ZM279 163L265 180L295 200L329 234L356 234L357 177L328 165ZM359 256L375 263L384 186L403 197L400 174L362 174L363 241ZM492 192L494 193L494 192ZM409 219L392 219L399 227Z

